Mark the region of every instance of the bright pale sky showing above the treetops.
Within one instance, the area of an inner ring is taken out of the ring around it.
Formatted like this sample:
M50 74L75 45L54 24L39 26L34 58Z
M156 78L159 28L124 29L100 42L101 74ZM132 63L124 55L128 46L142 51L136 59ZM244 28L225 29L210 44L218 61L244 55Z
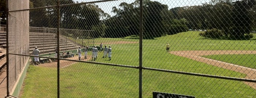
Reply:
M101 1L101 0L74 0L80 2L90 2L90 1ZM122 2L126 2L128 4L133 3L135 0L116 0L116 1L107 1L103 3L96 3L99 5L99 8L104 12L110 14L111 16L114 15L112 11L112 7L117 7ZM193 6L193 5L201 5L202 3L209 2L209 0L151 0L151 1L158 1L161 4L168 5L168 8L175 8L175 7L184 7L184 6Z

